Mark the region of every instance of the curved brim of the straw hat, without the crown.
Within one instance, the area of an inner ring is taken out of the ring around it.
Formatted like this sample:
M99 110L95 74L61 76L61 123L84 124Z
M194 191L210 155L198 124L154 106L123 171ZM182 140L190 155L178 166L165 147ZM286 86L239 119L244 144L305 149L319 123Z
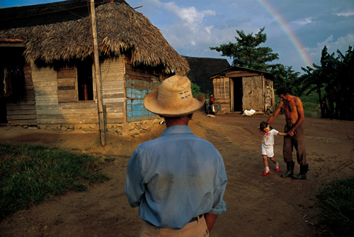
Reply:
M144 106L148 111L163 117L177 117L193 114L195 111L198 111L205 102L205 96L200 94L198 97L193 98L192 103L188 106L179 106L177 108L162 106L157 99L158 95L159 89L153 89L152 92L144 97Z

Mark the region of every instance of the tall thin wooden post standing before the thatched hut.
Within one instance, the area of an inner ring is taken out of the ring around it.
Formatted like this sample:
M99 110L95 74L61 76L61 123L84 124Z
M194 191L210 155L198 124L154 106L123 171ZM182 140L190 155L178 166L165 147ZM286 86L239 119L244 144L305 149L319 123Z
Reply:
M95 64L95 82L97 92L97 104L98 104L98 121L100 126L100 138L101 145L105 146L105 121L103 114L103 99L101 92L101 70L98 54L98 42L97 42L97 28L96 28L96 13L95 13L95 0L91 0L91 24L92 24L92 38L93 38L93 62Z

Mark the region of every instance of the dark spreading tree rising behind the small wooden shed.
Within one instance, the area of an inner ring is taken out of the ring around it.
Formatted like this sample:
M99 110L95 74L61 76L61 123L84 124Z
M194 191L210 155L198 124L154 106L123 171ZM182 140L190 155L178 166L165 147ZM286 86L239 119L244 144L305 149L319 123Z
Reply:
M278 53L272 53L273 50L268 47L259 47L265 43L267 35L263 33L264 27L253 36L253 33L246 35L244 31L236 30L239 38L235 36L237 43L229 42L220 47L210 47L210 50L222 52L222 56L232 58L232 65L247 67L254 70L267 71L270 65L266 62L278 60Z

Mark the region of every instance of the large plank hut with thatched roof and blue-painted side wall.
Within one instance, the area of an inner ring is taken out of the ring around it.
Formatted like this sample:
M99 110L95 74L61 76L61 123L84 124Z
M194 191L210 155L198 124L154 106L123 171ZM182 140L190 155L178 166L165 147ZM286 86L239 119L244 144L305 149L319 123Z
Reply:
M124 134L157 117L144 95L188 62L125 1L95 4L105 124ZM1 123L98 126L89 12L86 0L0 9Z

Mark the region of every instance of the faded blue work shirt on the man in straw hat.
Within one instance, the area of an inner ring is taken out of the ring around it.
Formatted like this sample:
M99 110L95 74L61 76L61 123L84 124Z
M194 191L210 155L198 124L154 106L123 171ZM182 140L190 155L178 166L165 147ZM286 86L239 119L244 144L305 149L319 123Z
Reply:
M222 156L188 126L170 126L135 149L127 165L125 194L141 219L180 229L200 214L222 214L227 184Z

